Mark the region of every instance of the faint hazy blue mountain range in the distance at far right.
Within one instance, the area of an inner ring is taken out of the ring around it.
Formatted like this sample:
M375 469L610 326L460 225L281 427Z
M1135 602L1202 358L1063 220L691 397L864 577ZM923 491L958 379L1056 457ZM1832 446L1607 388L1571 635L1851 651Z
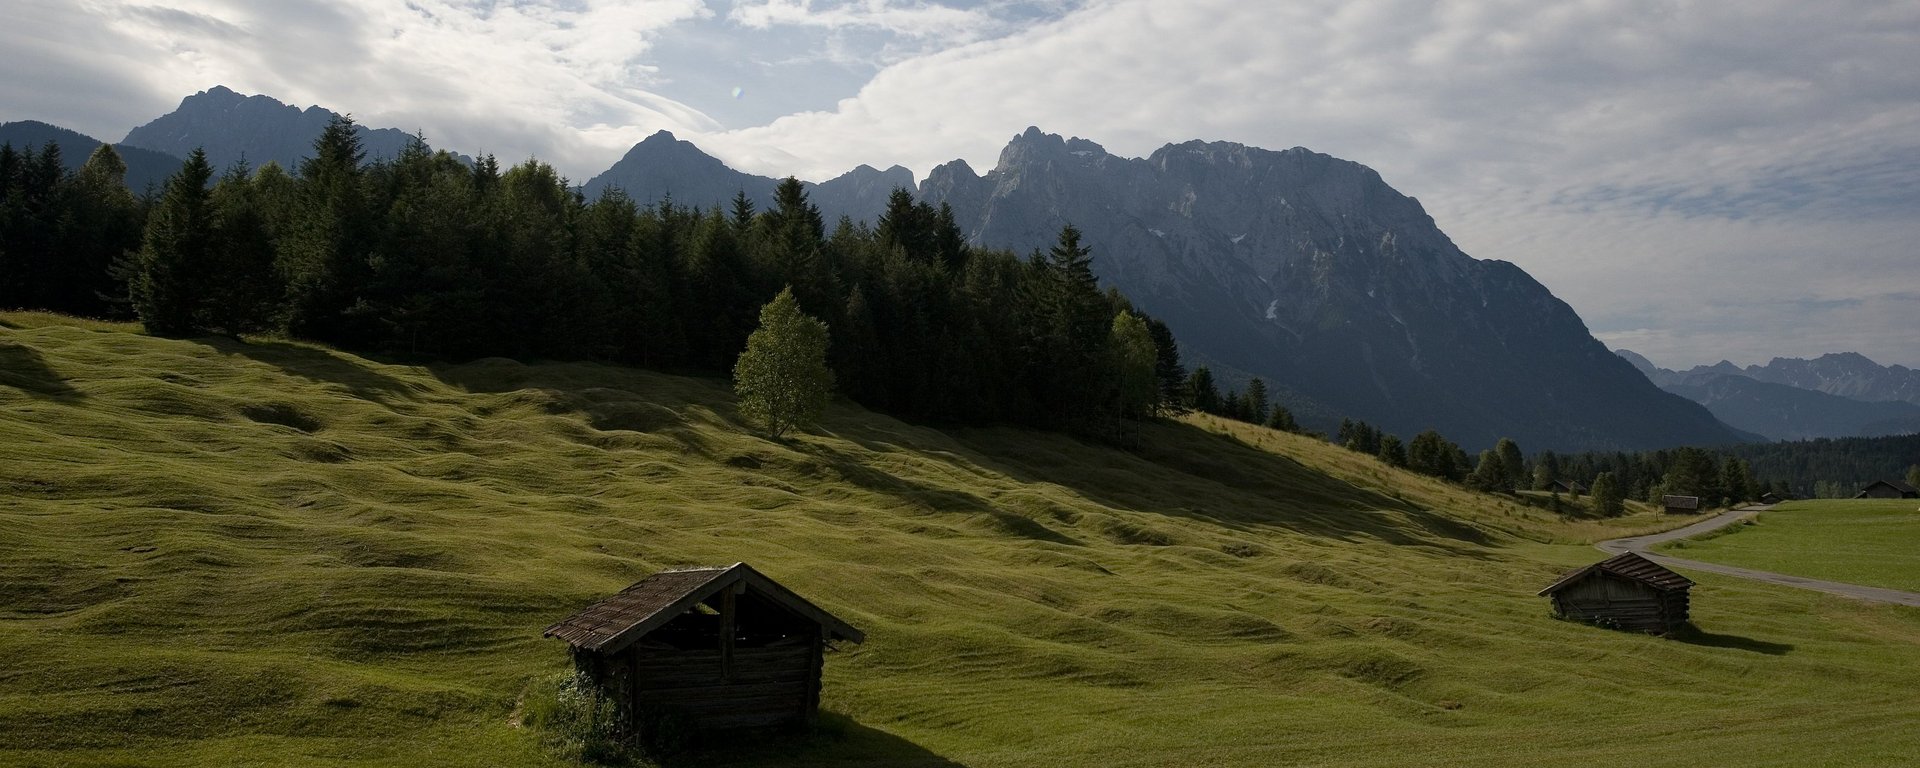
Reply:
M1920 432L1920 372L1859 353L1774 357L1745 369L1720 361L1668 371L1615 349L1661 390L1770 440L1878 438Z

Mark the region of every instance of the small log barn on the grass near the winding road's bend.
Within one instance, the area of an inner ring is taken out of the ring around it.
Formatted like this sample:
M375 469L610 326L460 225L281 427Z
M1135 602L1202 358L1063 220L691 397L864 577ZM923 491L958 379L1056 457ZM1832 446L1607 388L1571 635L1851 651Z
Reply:
M1540 589L1553 614L1617 630L1668 634L1688 620L1693 582L1645 557L1619 553Z

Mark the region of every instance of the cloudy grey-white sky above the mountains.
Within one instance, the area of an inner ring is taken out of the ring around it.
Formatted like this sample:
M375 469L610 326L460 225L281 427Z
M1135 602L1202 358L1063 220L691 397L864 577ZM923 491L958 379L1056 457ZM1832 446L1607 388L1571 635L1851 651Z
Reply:
M1379 171L1663 367L1920 367L1920 0L4 0L0 121L225 84L538 156L991 169L1027 125Z

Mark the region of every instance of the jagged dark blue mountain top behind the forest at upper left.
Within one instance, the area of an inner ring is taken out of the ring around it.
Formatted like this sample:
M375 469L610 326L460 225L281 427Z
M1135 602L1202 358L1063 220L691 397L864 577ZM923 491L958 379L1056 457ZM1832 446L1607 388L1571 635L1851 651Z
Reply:
M213 86L180 100L180 106L127 132L123 144L184 157L207 152L215 171L246 157L253 167L280 163L288 173L313 156L313 140L336 117L332 109L294 108L269 96L242 96ZM357 127L367 159L397 157L413 134L399 129Z

